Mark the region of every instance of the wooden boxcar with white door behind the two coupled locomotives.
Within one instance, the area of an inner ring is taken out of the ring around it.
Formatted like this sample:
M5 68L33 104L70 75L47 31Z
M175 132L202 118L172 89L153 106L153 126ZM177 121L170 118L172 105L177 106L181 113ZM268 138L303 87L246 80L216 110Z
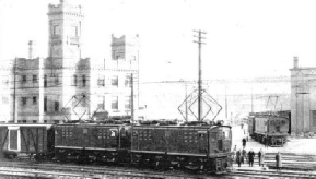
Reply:
M1 154L4 157L40 157L54 152L51 124L0 124Z

